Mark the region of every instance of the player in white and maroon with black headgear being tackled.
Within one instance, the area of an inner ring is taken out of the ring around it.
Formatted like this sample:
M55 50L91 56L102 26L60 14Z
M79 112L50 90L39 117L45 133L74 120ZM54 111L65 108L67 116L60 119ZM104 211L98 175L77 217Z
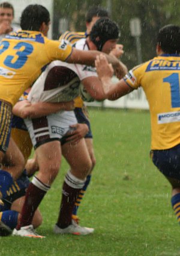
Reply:
M116 47L119 30L115 22L109 19L101 19L100 25L106 28L106 34L101 45L101 51L109 53ZM98 36L97 36L98 37ZM97 49L92 41L91 34L87 39L82 39L76 44L77 49ZM124 72L127 72L123 66ZM88 93L95 99L103 100L104 91L101 82L97 78L95 69L85 65L62 63L53 61L44 73L38 78L29 93L29 100L35 101L70 101L79 95L80 81ZM86 181L86 176L91 170L91 159L88 154L85 140L82 139L75 145L71 143L71 125L76 125L77 120L73 111L42 117L41 119L26 120L26 125L35 147L39 172L32 179L26 193L19 225L13 234L28 236L28 226L31 225L35 209L40 204L46 192L50 189L53 180L58 174L61 164L61 152L70 164L70 170L65 176L62 188L62 202L58 222L55 225L56 234L90 234L94 229L82 228L72 222L71 215L79 195L80 189ZM76 133L76 131L75 131ZM67 142L68 143L65 143ZM64 144L61 148L61 144ZM71 144L71 145L70 145Z

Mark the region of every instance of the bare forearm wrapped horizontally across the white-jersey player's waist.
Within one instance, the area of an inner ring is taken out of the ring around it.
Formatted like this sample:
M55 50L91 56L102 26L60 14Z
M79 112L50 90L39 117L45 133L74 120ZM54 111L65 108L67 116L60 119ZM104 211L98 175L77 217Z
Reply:
M73 110L74 101L68 102L35 102L31 103L27 100L17 102L13 107L13 114L22 118L37 118L56 113L60 110Z

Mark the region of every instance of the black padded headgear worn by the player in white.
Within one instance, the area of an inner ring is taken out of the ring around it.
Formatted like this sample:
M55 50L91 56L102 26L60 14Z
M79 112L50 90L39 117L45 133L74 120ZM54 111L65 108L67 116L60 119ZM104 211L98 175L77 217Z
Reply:
M119 38L118 25L108 18L98 19L92 27L89 37L97 46L98 51L101 51L107 40Z

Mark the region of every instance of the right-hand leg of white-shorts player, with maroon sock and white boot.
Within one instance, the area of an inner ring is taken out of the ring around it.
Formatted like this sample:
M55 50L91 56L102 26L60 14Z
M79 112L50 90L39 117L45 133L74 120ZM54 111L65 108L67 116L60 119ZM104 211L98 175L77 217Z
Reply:
M94 229L72 225L71 220L74 202L79 196L79 192L85 184L86 176L91 170L91 159L85 140L80 140L76 145L65 143L62 146L62 154L70 164L70 170L65 176L62 187L61 207L54 231L56 234L90 234Z

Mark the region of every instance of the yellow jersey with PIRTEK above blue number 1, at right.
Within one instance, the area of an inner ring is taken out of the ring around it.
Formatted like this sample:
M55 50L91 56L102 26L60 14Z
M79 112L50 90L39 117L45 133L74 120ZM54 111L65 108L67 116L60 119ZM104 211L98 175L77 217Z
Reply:
M163 54L130 70L125 82L142 86L151 113L151 149L180 143L180 56Z

